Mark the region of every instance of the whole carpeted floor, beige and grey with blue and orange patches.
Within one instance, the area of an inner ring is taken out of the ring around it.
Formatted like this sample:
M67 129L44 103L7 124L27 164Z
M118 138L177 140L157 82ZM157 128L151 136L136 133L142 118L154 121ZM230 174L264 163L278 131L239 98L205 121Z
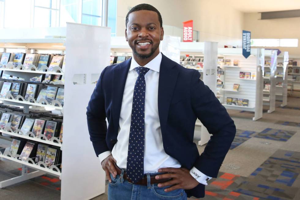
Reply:
M237 134L218 178L209 181L203 199L300 199L300 110L297 109L300 99L289 97L284 108L280 104L276 101L276 110L270 114L264 112L263 118L257 121L252 121L253 112L228 110ZM268 107L264 106L264 110ZM204 148L205 145L198 146L199 153ZM0 161L0 181L18 175L20 167ZM60 199L59 190L60 181L44 175L0 189L0 199ZM94 198L104 199L107 199L107 187L104 194Z

